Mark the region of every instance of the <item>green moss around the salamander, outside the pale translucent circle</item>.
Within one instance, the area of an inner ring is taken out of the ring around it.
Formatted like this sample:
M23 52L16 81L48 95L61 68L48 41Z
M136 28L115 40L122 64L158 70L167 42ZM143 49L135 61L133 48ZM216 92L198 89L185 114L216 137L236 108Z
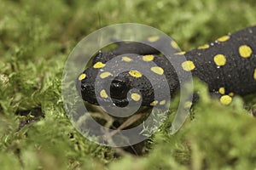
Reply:
M61 101L67 56L91 31L137 22L189 50L255 25L255 16L253 0L0 0L1 169L255 169L255 95L223 106L196 83L193 119L173 136L162 127L139 157L84 139Z

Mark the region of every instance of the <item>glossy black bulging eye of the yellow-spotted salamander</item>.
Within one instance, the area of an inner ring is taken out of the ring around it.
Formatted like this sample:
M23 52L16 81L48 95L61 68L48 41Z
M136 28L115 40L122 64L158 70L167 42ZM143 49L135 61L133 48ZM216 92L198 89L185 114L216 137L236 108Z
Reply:
M113 80L110 86L110 95L113 99L126 99L129 88L126 82Z

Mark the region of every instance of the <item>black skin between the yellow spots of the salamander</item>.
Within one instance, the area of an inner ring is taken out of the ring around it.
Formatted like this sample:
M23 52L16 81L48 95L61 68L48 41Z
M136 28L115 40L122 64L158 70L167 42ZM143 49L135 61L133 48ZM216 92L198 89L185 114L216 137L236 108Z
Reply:
M209 91L219 96L230 93L241 96L256 93L256 80L253 78L253 71L256 69L256 26L236 31L230 34L229 37L224 42L216 41L208 44L209 48L195 48L184 54L185 58L193 61L195 65L195 69L191 71L192 75L193 77L200 78L203 82L207 82ZM158 48L166 48L168 45L168 48L172 48L170 42L166 39L160 39L152 43ZM241 57L238 50L241 45L247 45L252 49L249 57ZM173 48L173 51L177 52L177 49ZM120 54L154 54L154 63L164 70L164 76L168 81L171 96L179 88L177 73L172 65L169 64L169 61L164 56L160 56L158 50L143 43L119 42L118 47L112 52L96 54L92 65L98 61L106 63ZM225 65L218 66L214 63L213 58L217 54L224 54L226 59ZM180 56L172 54L173 59L177 57ZM139 66L141 67L142 65ZM115 68L113 68L114 70ZM99 71L100 69L89 67L83 72L86 74L86 78L77 82L77 88L82 98L93 105L98 105L95 95L95 80ZM162 79L156 75L155 79L157 78L158 82L156 83L161 85ZM101 86L104 88L104 82L102 82ZM218 93L218 89L221 87L225 89L224 94ZM127 93L131 88L137 88L141 92L143 95L143 106L149 106L154 101L154 90L147 77L131 77L126 71L114 77L113 82L111 82L110 96L113 99L113 103L124 107L128 102L131 102L131 99L127 98ZM163 99L165 98L165 94L163 94Z

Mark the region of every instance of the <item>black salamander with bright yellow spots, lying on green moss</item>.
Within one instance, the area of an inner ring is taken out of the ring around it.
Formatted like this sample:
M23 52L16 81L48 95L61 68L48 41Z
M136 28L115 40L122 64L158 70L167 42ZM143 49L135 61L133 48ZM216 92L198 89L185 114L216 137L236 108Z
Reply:
M173 48L177 50L175 42L166 42L160 37L148 37L148 42L157 44L158 47ZM102 89L97 94L98 100L113 99L118 106L125 106L128 102L141 101L142 105L164 105L167 96L162 94L162 99L154 99L152 84L140 71L131 68L117 77L113 77L117 67L111 71L105 71L105 63L119 54L134 53L137 56L122 56L119 58L119 66L131 65L139 61L138 67L146 67L149 61L157 66L148 68L148 74L152 75L157 86L161 88L162 81L166 77L170 93L175 94L179 88L177 74L172 65L159 52L141 43L132 42L119 43L118 48L113 52L99 53L93 60L90 68L79 75L77 88L82 98L91 104L98 105L95 94L95 81L99 74L102 79ZM248 27L233 34L220 37L215 42L205 44L189 52L172 54L172 57L179 57L184 54L187 61L179 63L182 71L191 71L194 77L199 77L207 82L211 93L219 96L220 102L229 105L234 94L246 95L256 93L256 26ZM102 77L101 77L102 75ZM150 76L151 77L151 76ZM109 78L110 91L105 89ZM139 93L128 93L132 88L137 88ZM127 94L128 93L128 94ZM173 95L172 95L173 96Z

